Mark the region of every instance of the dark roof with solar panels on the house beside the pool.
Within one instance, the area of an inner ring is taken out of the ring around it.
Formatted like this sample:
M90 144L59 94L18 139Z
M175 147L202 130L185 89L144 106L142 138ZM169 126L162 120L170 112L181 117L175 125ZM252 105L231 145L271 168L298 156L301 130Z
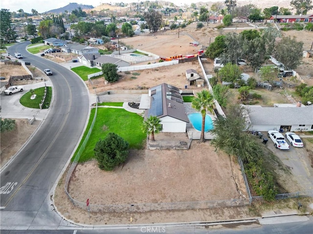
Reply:
M151 88L150 90L152 95L150 109L148 110L148 117L154 115L156 115L158 118L169 116L189 123L189 119L185 112L183 100L177 87L162 83ZM153 91L156 91L156 93L154 93ZM160 95L161 99L154 101L155 95ZM161 111L156 112L156 110L159 109L161 109Z

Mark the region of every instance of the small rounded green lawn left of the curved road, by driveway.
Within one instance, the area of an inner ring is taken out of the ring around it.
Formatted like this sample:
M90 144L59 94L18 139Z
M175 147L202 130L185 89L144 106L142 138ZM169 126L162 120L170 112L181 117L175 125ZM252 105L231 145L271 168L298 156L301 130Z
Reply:
M35 99L30 99L31 93L28 91L20 98L20 103L28 108L40 109L39 104L41 102L42 97L44 96L45 87L34 89L34 91L35 94L37 95ZM47 96L45 98L43 109L49 108L51 98L52 98L52 88L50 86L47 86Z

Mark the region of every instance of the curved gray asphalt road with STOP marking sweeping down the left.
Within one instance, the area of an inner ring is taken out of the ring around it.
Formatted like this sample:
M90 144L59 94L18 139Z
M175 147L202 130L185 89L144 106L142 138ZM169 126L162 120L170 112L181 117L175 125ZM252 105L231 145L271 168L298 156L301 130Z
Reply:
M67 68L25 50L30 42L8 49L40 70L50 68L53 102L36 134L0 172L1 229L55 229L62 218L50 204L52 187L64 169L89 117L89 93L81 79ZM3 111L3 110L2 110ZM43 225L44 224L44 225ZM65 224L68 225L68 224ZM62 226L62 225L61 225Z

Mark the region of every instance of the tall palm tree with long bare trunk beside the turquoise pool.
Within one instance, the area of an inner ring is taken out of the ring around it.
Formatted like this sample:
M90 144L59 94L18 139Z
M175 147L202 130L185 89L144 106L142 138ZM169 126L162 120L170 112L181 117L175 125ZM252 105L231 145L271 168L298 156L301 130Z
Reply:
M192 108L201 112L202 115L202 127L201 127L201 137L200 142L204 142L204 126L205 126L205 115L207 112L214 113L214 98L209 91L202 89L200 93L192 100Z

